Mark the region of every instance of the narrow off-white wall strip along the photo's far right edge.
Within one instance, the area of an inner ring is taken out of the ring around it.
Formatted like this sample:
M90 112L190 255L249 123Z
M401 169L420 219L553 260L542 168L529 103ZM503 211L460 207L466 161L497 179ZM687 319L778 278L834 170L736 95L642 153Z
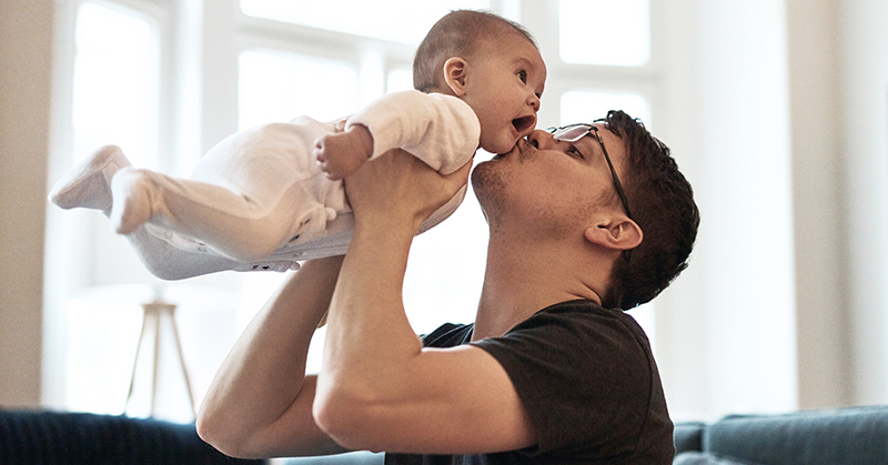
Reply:
M888 2L842 0L841 108L825 130L841 138L854 403L888 402Z

